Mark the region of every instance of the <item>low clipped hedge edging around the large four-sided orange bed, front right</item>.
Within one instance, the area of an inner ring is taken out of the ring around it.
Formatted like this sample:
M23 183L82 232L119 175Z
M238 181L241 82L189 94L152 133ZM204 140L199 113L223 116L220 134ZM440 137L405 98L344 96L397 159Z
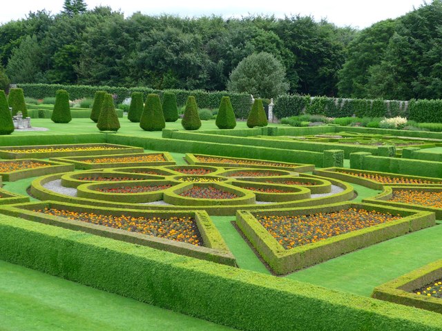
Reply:
M292 248L291 250L285 250L253 216L254 214L278 216L316 214L319 212L336 212L348 208L390 212L392 214L399 214L403 218L347 232L323 241ZM239 210L236 214L236 223L253 247L256 248L262 259L269 263L269 266L276 274L294 272L309 265L338 257L341 254L373 245L374 243L436 225L434 213L432 212L387 208L368 203L335 203L332 205L320 205L314 208L253 210L252 212Z

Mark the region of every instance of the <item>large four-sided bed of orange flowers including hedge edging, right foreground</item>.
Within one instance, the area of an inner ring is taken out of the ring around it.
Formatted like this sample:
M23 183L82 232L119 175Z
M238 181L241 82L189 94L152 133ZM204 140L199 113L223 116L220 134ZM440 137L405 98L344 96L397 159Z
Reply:
M236 219L238 227L276 274L287 274L435 225L432 212L366 203L239 210Z

